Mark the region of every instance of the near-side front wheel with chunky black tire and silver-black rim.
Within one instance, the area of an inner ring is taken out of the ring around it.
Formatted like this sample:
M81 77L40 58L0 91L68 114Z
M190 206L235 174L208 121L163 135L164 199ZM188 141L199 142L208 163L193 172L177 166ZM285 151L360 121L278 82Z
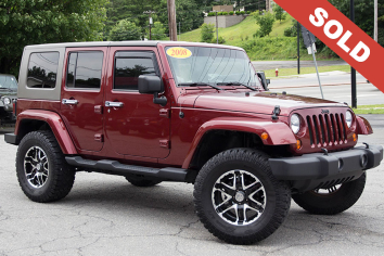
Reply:
M204 226L232 244L252 244L272 234L291 205L289 187L278 181L268 156L233 149L208 161L194 184L194 205Z

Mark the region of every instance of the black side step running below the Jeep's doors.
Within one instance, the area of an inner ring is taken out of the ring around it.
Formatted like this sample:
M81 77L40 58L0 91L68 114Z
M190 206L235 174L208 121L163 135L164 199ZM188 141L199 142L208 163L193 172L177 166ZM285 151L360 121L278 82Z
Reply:
M188 169L166 167L166 168L151 168L136 165L125 165L119 163L118 161L91 161L85 159L81 156L66 156L66 162L72 166L84 167L87 169L92 169L94 171L113 174L113 175L143 175L149 177L155 177L163 180L171 180L171 181L182 181L182 182L191 182L190 178L187 177L189 174ZM193 172L193 171L192 171ZM191 175L190 175L191 176Z

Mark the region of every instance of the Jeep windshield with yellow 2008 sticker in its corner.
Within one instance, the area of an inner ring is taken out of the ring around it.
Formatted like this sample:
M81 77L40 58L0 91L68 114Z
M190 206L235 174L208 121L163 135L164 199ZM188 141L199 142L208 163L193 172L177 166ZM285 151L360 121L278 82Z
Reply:
M240 82L261 87L245 52L213 47L167 47L177 85Z

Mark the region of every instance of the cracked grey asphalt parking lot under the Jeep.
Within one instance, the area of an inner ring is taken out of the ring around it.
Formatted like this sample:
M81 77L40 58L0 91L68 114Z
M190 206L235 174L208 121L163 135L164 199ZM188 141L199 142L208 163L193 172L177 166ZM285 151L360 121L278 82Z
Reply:
M384 144L384 117L366 116ZM17 148L0 130L0 255L383 255L384 164L368 171L358 203L336 216L309 215L292 202L280 229L251 245L226 244L194 214L193 185L137 188L123 177L78 172L60 202L29 201L15 175Z

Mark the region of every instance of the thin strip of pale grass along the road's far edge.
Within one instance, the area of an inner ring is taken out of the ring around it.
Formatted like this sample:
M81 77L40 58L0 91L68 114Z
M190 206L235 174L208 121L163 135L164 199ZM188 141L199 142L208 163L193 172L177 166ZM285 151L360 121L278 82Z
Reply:
M319 66L319 73L324 73L324 72L350 72L350 66L349 65L336 65L336 66ZM274 74L276 69L267 69L265 71L266 76L268 78L276 78ZM316 67L300 67L300 75L304 74L312 74L316 73ZM279 77L284 77L284 76L294 76L297 75L297 68L279 68Z

